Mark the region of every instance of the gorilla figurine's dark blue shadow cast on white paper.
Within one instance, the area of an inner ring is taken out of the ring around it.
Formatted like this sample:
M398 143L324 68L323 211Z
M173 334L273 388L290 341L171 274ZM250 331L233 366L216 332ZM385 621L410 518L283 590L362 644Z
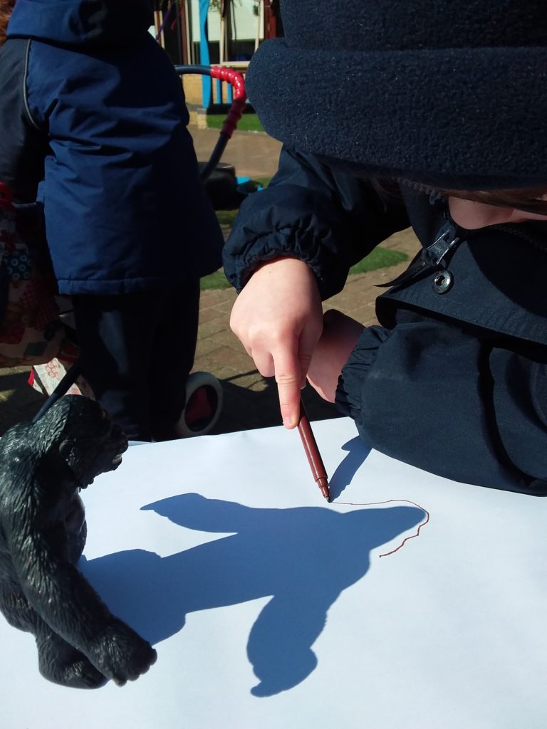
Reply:
M311 646L338 596L368 571L370 552L424 518L416 507L255 509L181 494L148 504L185 527L233 532L160 557L128 550L79 569L109 609L152 644L179 631L190 612L271 596L252 625L247 655L255 696L295 687L317 665Z

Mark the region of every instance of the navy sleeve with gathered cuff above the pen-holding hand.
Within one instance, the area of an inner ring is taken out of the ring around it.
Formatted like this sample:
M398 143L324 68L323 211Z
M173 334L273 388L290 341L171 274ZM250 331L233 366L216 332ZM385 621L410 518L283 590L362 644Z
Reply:
M339 292L350 266L408 227L403 203L370 183L284 147L266 190L241 205L225 244L225 273L241 291L260 262L289 255L308 263L322 298Z

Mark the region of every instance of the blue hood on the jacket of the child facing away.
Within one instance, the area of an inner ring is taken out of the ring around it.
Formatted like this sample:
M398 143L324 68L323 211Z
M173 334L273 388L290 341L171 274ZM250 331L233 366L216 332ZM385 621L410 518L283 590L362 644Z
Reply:
M152 0L18 0L7 38L120 45L141 36L153 23Z

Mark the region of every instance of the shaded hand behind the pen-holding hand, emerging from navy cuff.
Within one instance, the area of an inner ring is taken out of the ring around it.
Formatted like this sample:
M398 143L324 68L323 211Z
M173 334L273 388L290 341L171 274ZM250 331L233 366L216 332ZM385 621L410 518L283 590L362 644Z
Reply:
M330 309L325 312L323 333L308 370L308 381L321 397L334 402L342 367L357 343L364 327L355 319Z

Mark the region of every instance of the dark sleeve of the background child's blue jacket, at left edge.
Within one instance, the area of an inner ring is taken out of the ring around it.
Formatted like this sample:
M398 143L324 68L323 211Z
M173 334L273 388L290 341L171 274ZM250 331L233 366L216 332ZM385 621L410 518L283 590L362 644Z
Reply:
M8 39L0 50L0 182L16 200L36 200L44 176L47 132L32 119L26 101L26 61L30 41Z

